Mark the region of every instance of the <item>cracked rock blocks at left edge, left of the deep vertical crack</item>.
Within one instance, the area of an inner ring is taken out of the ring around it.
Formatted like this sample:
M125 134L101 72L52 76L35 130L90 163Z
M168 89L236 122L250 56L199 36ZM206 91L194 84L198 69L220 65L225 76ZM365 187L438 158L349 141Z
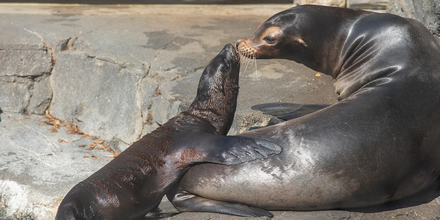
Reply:
M51 51L36 33L6 22L0 29L0 108L44 114L51 98Z

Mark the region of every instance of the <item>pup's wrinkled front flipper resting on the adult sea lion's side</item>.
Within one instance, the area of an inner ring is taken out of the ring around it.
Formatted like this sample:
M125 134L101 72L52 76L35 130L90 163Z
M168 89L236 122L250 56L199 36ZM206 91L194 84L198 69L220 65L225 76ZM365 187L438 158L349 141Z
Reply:
M206 155L199 161L234 165L256 159L266 159L281 153L281 147L263 139L245 136L218 136L205 133L202 149Z

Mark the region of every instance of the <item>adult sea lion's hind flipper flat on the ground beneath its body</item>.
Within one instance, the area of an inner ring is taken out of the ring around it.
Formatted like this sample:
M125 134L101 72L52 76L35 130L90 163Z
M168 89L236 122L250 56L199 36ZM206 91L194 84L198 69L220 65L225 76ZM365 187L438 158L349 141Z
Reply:
M167 194L168 196L168 194ZM170 198L169 198L170 199ZM272 213L239 203L222 202L179 191L170 199L174 208L181 212L219 213L246 217L273 217Z

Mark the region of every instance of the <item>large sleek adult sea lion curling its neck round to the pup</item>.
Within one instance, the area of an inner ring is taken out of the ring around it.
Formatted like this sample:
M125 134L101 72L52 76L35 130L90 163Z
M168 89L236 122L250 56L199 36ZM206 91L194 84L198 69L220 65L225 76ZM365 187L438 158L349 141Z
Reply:
M167 194L178 210L362 207L407 197L439 176L440 45L422 23L303 5L272 16L237 45L257 59L290 59L334 77L340 101L239 134L282 152L191 167L175 195Z

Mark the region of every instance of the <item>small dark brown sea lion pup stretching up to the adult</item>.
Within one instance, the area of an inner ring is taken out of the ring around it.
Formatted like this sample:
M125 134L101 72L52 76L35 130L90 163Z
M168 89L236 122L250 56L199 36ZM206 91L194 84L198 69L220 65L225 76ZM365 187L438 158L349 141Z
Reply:
M239 60L235 48L227 44L203 71L189 109L74 186L55 219L139 219L159 205L194 163L232 165L278 154L281 148L268 141L225 136L237 104ZM247 209L267 215L258 208Z

